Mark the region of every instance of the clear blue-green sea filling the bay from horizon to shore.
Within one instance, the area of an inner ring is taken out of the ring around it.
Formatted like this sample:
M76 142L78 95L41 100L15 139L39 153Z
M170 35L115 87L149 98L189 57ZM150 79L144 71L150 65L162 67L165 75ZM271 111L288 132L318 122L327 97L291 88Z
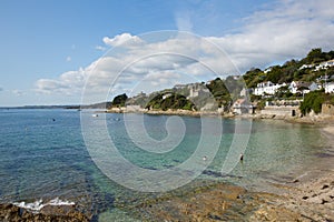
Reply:
M0 203L76 205L95 221L136 221L145 200L213 181L273 191L330 145L277 120L67 109L0 109Z

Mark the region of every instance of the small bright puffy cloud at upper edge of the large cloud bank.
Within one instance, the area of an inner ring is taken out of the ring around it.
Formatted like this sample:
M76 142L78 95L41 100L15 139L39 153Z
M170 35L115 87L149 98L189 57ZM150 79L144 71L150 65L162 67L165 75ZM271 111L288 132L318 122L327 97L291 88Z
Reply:
M122 34L117 34L114 38L105 37L104 42L110 47L118 47L118 46L141 44L143 40L139 37L131 36L130 33L122 33Z

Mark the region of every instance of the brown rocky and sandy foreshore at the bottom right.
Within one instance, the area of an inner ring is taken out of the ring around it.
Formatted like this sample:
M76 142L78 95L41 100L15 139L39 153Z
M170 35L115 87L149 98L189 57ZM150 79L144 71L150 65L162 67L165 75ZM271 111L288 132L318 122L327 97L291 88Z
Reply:
M219 183L183 196L139 205L144 221L333 221L334 172L292 185L284 194L250 192Z

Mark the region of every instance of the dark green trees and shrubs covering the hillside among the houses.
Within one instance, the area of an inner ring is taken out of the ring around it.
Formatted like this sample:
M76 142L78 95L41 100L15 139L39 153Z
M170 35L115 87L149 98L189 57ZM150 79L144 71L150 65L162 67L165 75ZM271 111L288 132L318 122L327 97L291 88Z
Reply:
M124 107L127 104L139 104L143 108L168 110L168 109L183 109L183 110L196 110L204 108L206 104L215 103L213 109L224 108L228 111L233 101L246 95L246 91L242 94L244 89L256 88L258 83L271 81L273 83L289 83L292 81L313 82L317 81L323 83L324 75L327 78L334 77L334 67L328 69L315 70L315 67L321 62L334 59L334 51L323 52L322 49L312 49L307 56L302 60L289 60L282 65L273 65L266 70L258 68L252 68L242 78L240 77L227 77L225 80L216 78L208 83L202 84L203 89L207 88L210 93L205 90L200 91L200 95L191 97L191 101L188 100L191 85L184 85L165 89L159 92L154 92L148 97L140 95L130 98L126 94L117 95L112 101L112 107ZM307 64L307 65L305 65ZM307 85L301 87L298 90L306 90ZM167 97L168 95L168 97ZM288 85L279 88L274 95L265 94L264 97L250 94L250 100L257 103L257 108L263 109L266 101L275 100L296 100L302 99L302 93L293 94ZM323 91L315 91L305 94L304 102L301 104L301 111L306 114L313 110L315 113L321 112L322 103L331 102L334 104L334 98L325 94ZM209 107L209 105L208 105Z

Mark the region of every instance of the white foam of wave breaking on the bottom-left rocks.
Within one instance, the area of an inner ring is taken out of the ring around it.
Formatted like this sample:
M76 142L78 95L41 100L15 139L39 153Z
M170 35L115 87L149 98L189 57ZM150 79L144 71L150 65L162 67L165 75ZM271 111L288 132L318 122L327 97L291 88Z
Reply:
M43 203L42 200L38 200L32 203L26 203L24 201L22 201L22 202L14 202L13 204L19 208L23 208L23 209L27 209L27 210L30 210L33 212L38 212L46 205L75 205L76 203L71 202L71 201L62 201L59 198L56 198L56 199L50 200L47 203Z

